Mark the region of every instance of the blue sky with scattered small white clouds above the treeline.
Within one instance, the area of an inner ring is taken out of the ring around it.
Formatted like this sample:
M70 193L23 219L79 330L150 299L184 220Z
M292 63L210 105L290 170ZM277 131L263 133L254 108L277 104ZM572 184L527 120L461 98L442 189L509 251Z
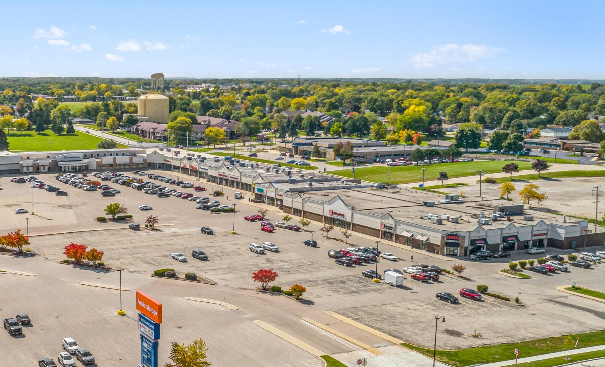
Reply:
M66 3L11 3L2 76L605 79L602 1Z

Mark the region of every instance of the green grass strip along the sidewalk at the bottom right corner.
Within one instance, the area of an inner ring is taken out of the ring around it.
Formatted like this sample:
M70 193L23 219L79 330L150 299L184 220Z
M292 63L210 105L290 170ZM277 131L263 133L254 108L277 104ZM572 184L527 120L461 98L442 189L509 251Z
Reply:
M586 348L587 346L605 344L605 331L593 331L592 333L574 334L572 337L575 340L578 336L580 337L580 342L578 342L578 348ZM566 351L567 346L564 345L565 339L566 336L557 336L545 339L526 340L525 342L518 343L485 345L479 346L477 348L468 348L454 351L437 350L437 360L456 367L476 365L479 363L500 362L503 360L514 359L515 348L519 349L520 358L539 356L540 354ZM413 349L414 351L425 354L425 356L431 358L433 357L433 349L431 348L420 348L419 346L411 345L408 343L403 343L403 345L407 348ZM605 356L605 351L600 352L602 353L601 356ZM586 359L578 359L578 356L580 356L580 354L577 354L574 360ZM532 366L547 367L566 363L561 358L558 358L557 360L559 361L558 363L551 365L535 364ZM523 366L526 365L528 364L523 363Z

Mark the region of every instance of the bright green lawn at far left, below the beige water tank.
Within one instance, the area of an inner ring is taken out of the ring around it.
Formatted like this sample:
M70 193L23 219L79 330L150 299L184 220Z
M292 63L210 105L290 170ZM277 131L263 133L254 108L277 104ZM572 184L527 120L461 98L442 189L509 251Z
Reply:
M50 130L36 134L34 131L10 132L7 134L11 152L78 151L97 149L102 138L76 131L73 135L55 135ZM128 148L118 144L118 148Z

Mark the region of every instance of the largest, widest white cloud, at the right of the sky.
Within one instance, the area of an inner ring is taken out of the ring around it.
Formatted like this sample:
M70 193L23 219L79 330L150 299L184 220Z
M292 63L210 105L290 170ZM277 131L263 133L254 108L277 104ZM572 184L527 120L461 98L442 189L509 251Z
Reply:
M497 54L505 53L504 48L489 47L486 45L457 45L446 44L434 46L431 51L426 53L416 53L410 61L414 68L432 68L435 64L450 62L468 62L484 57L494 57Z

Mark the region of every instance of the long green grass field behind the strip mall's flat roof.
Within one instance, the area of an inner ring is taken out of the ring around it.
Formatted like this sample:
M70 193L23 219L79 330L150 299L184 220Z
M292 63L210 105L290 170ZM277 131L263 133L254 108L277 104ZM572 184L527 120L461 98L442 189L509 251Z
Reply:
M425 180L437 180L439 172L445 171L448 173L450 178L465 177L476 173L476 171L483 170L483 174L493 174L496 172L502 172L502 166L508 161L473 161L473 162L457 162L457 163L440 163L431 164L425 166L427 172L425 174ZM531 169L531 163L529 162L518 162L519 169ZM390 183L403 184L422 181L422 172L420 172L421 166L399 166L390 167ZM365 181L371 182L387 182L389 167L376 166L376 167L364 167L355 169L355 178L361 178ZM330 171L330 174L352 178L353 172L350 169L344 169L342 171Z

